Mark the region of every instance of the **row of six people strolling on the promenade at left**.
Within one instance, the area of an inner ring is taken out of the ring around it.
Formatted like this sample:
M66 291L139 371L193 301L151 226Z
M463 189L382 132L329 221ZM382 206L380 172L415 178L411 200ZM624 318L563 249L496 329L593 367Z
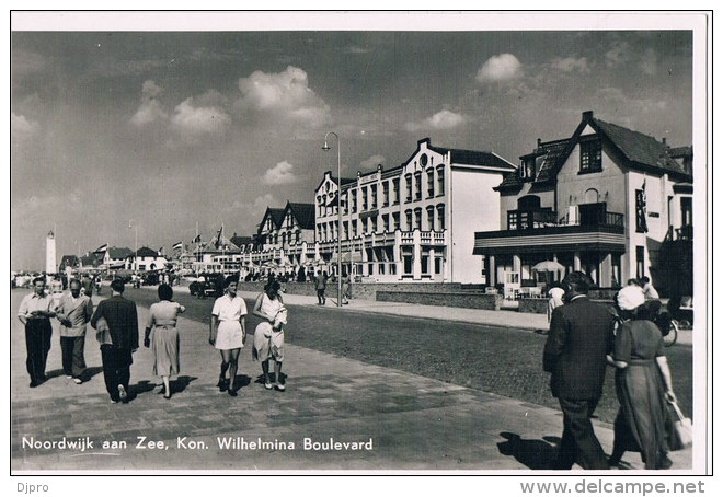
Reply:
M62 369L68 379L77 384L88 380L84 359L88 325L96 331L100 344L103 378L113 403L128 402L130 366L139 348L138 311L136 303L123 293L125 284L120 279L111 282L112 294L95 309L82 284L73 279L69 292L56 302L46 291L46 280L37 277L33 281L33 293L25 296L18 316L25 327L26 369L30 386L36 388L47 380L46 365L51 347L53 325L60 323L60 348ZM288 310L284 305L280 284L271 281L255 301L253 314L262 322L256 327L253 343L253 359L261 362L264 388L284 391L282 377L284 360L284 328L288 322ZM145 328L144 346L153 355L152 373L161 379L164 398L171 398L171 378L181 372L180 335L176 327L179 315L185 308L173 301L170 285L158 287L159 301L151 304ZM231 396L238 395L237 372L241 348L244 347L246 305L237 294L237 280L226 280L223 296L216 299L210 316L209 343L220 351L221 367L217 386ZM269 361L275 361L274 375L269 373Z

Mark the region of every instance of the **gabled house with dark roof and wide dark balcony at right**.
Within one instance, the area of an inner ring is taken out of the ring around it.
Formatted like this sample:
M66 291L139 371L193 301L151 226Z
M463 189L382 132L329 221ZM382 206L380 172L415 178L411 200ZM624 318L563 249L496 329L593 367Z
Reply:
M473 252L506 293L533 292L571 270L602 288L655 277L664 244L692 236L692 148L592 112L570 138L538 140L495 189L502 230L479 230ZM537 270L542 263L552 270Z

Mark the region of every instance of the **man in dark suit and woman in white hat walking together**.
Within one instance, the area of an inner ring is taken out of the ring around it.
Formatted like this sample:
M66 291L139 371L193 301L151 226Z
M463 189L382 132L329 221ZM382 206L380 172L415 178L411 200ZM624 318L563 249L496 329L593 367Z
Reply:
M543 369L551 373L551 391L563 413L553 469L570 470L577 463L585 470L607 470L618 465L629 450L641 453L647 470L668 469L666 402L676 397L663 335L653 322L659 302L645 300L640 287L640 297L628 303L628 292L621 290L622 307L629 311L621 320L610 308L587 298L592 285L583 273L569 274L562 281L564 304L551 312ZM610 366L616 369L620 407L608 459L590 417Z

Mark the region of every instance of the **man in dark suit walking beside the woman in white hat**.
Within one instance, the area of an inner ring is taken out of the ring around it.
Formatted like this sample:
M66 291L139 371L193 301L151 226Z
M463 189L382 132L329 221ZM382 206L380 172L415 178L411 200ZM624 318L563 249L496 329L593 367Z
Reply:
M590 417L602 395L613 316L587 298L593 281L585 274L573 271L562 284L565 305L552 311L542 358L543 369L552 373L552 395L560 401L564 416L553 469L570 470L577 462L585 470L607 470Z

